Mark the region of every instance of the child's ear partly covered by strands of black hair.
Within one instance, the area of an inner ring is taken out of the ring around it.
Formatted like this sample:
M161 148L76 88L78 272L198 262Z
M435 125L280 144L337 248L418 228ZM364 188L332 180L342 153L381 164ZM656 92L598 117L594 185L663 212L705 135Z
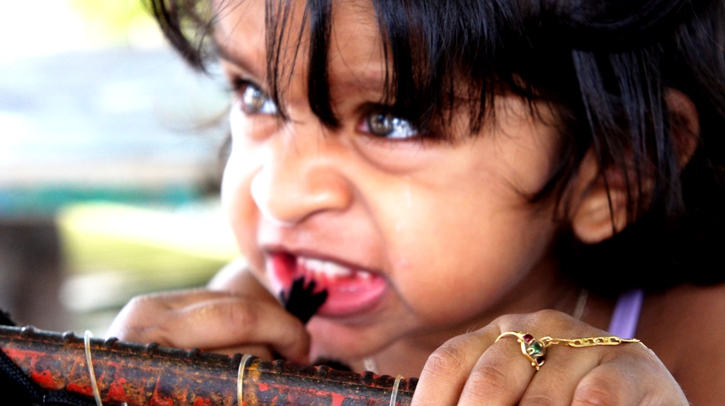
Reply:
M671 117L671 136L682 170L697 149L700 120L695 103L679 90L668 89L665 102ZM642 179L642 192L648 193L652 185L651 179ZM628 199L624 174L614 167L602 173L594 151L590 150L582 159L570 193L571 229L581 242L602 242L626 226ZM636 201L637 196L633 196L632 200Z

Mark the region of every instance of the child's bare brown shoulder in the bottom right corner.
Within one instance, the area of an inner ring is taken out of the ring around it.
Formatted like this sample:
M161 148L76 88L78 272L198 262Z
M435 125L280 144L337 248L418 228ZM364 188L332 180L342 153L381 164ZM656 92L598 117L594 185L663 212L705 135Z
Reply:
M693 405L725 399L725 283L683 285L645 300L638 337Z

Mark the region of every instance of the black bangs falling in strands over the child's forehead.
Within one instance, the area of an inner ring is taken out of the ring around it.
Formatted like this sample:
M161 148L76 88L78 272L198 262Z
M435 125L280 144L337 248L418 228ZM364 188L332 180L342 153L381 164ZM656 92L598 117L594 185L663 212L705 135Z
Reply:
M307 0L302 25L292 32L292 2L266 1L268 89L283 117L286 113L279 101L294 69L285 62L296 61L301 44L306 43L310 108L329 127L339 125L328 67L333 7L331 0ZM520 84L513 71L506 70L511 64L494 63L502 44L514 48L516 43L518 48L521 43L521 35L510 28L515 12L500 1L471 1L461 7L445 1L376 0L373 7L385 64L380 102L413 122L424 137L446 138L450 133L446 128L460 108L470 117L471 133L478 132L492 112L494 93ZM295 57L283 57L284 52Z

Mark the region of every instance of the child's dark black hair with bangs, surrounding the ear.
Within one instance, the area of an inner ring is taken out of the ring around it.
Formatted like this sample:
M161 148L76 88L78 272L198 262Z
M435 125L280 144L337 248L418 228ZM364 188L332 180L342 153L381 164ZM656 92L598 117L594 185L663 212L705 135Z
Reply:
M150 1L173 46L204 70L214 57L209 0ZM597 245L562 237L563 266L581 284L616 292L725 280L723 267L711 265L725 246L723 1L370 1L389 58L385 98L419 127L444 127L463 106L474 133L490 117L494 95L515 93L552 106L563 137L550 182L531 200L555 198L566 207L565 186L587 151L602 177L610 169L624 176L629 227ZM331 127L333 7L332 0L305 4L308 98ZM291 0L267 1L268 88L276 101L286 79L278 38L290 9ZM689 97L699 114L697 149L684 169L672 130L687 128L668 112L668 89Z

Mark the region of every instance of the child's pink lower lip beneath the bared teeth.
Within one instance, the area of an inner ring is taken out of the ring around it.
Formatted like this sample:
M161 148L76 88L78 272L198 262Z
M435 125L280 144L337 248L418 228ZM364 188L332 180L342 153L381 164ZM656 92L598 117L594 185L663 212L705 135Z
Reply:
M292 282L301 276L315 281L315 291L327 290L327 300L316 313L318 316L357 316L372 310L386 292L387 282L383 276L372 274L363 277L355 272L350 276L328 278L306 271L297 266L297 258L284 253L270 255L268 274L278 290L289 290Z

